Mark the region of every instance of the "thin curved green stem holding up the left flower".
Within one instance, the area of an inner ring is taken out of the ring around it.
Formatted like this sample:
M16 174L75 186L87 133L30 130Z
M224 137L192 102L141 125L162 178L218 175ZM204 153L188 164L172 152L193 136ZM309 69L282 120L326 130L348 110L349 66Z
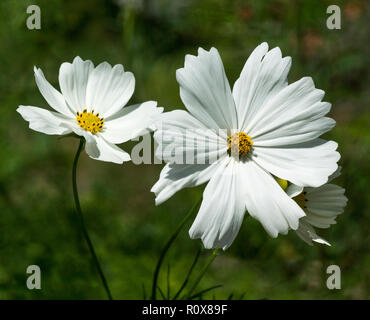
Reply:
M108 287L107 280L105 279L103 270L100 267L100 263L99 263L98 257L96 256L96 253L95 253L95 250L94 250L94 246L93 246L93 244L92 244L92 242L90 240L89 234L87 232L87 229L86 229L86 226L85 226L85 220L84 220L84 217L83 217L82 211L81 211L80 200L78 198L76 171L77 171L78 159L80 157L80 154L81 154L81 151L82 151L82 149L84 147L84 144L85 144L85 141L81 138L80 139L80 144L79 144L78 149L77 149L76 156L75 156L74 161L73 161L73 169L72 169L73 197L74 197L75 204L76 204L76 212L77 212L78 220L80 222L81 230L82 230L82 233L83 233L83 235L85 237L85 240L87 242L87 245L89 247L89 250L90 250L91 256L93 258L94 264L95 264L95 266L96 266L96 268L98 270L100 279L101 279L101 281L103 283L103 286L104 286L105 291L107 292L107 295L108 295L109 300L113 300L112 295L111 295L110 290L109 290L109 287Z

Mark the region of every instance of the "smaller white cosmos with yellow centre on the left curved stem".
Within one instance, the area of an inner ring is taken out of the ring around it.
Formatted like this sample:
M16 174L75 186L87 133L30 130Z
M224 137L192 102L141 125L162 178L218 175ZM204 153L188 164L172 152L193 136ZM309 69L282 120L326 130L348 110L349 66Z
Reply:
M36 84L55 110L19 106L17 111L33 130L65 135L75 133L86 140L87 154L97 160L123 163L130 155L116 144L139 136L162 112L157 102L147 101L123 108L130 100L135 78L123 66L103 62L94 68L91 61L76 57L59 69L61 93L34 68Z

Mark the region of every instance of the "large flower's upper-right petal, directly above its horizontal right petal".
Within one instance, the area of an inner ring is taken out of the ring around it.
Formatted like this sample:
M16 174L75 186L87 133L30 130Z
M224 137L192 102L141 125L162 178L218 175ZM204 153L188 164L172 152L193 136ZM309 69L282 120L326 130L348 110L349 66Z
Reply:
M324 91L311 78L290 84L260 108L246 131L254 146L281 146L315 139L335 125L324 117L330 103L321 102Z

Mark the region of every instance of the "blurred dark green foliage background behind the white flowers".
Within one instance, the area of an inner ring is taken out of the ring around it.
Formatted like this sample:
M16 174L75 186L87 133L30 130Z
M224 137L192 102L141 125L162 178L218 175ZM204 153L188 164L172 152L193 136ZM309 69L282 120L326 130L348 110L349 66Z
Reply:
M28 5L41 8L41 30L28 30ZM157 100L184 108L175 70L187 53L215 46L230 83L263 41L293 58L289 81L312 76L333 104L348 206L320 234L332 247L310 247L294 232L270 238L247 219L234 244L217 257L199 289L222 284L204 298L370 298L370 45L369 3L335 1L342 29L326 27L333 1L2 0L0 2L0 299L105 299L78 229L71 167L78 141L28 129L20 104L47 107L33 76L36 65L57 88L62 62L79 55L95 64L120 63L136 77L130 103ZM123 146L130 151L134 143ZM115 165L83 153L78 169L90 235L116 299L150 291L159 252L204 186L155 207L151 186L162 165ZM165 260L174 292L200 247L189 225ZM200 267L210 255L201 255ZM26 268L39 265L42 290L28 290ZM342 289L326 288L326 268L342 271ZM199 271L197 269L196 271Z

